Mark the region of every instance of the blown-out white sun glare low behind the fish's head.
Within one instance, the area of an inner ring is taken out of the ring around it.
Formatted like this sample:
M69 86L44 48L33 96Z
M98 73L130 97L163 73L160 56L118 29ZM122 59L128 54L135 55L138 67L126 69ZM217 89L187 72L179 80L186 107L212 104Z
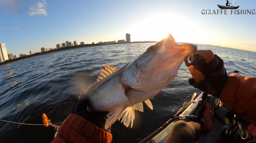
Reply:
M160 41L170 33L176 42L196 43L198 39L202 40L203 38L198 29L199 27L186 18L159 13L138 21L131 34L133 41Z

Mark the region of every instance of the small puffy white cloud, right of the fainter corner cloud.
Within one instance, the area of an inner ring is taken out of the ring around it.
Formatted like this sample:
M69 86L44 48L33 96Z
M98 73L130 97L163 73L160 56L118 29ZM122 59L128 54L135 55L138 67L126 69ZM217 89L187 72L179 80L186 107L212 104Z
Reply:
M33 16L33 15L41 15L41 14L44 14L45 16L47 16L47 13L46 13L46 0L42 0L42 3L41 2L38 2L35 4L35 6L31 6L29 8L30 12L29 12L29 15Z

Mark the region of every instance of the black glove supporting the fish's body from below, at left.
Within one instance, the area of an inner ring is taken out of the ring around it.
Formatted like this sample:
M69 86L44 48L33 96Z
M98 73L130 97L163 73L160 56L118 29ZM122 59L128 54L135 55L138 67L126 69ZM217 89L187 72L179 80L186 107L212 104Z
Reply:
M101 112L101 111L88 111L87 110L88 100L87 99L79 99L75 105L72 107L72 113L81 116L87 121L91 122L95 126L100 129L105 130L105 122L109 119L109 112ZM110 128L105 131L110 132Z

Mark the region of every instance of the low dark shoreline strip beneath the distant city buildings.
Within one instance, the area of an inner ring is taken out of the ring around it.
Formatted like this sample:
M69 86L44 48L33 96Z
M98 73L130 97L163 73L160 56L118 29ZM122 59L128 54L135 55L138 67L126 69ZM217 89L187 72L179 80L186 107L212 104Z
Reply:
M5 62L0 63L0 66L10 64L10 63L13 63L13 62L17 62L19 60L25 60L25 59L28 59L28 58L33 58L34 56L39 56L39 55L58 52L58 51L63 51L63 50L70 50L70 49L77 49L77 48L84 48L84 47L94 47L94 46L104 46L104 45L132 44L132 43L156 43L156 41L143 41L143 42L137 41L137 42L131 42L131 43L85 44L85 45L69 46L69 47L53 49L53 50L49 50L49 51L45 51L45 52L38 52L38 53L31 54L31 55L25 55L25 56L22 56L22 57L19 57L19 58L16 58L16 59L7 60Z

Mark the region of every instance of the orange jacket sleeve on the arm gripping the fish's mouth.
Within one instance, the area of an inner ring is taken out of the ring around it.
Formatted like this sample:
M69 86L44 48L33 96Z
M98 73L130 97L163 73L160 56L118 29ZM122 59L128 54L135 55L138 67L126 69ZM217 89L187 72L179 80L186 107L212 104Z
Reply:
M252 124L256 124L256 78L231 74L220 100Z

